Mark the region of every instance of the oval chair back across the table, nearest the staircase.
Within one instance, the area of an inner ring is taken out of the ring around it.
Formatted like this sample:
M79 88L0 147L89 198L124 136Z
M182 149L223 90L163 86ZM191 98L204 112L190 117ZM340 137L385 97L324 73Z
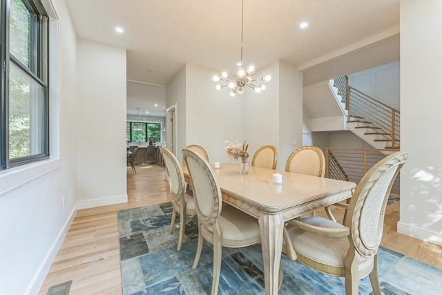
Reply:
M316 146L301 146L287 158L285 171L324 177L324 153Z

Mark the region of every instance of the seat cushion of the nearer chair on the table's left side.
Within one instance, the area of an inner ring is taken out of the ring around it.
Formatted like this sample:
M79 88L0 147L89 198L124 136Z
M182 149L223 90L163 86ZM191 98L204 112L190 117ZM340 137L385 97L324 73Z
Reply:
M227 204L222 207L218 223L223 246L244 247L261 241L258 220Z

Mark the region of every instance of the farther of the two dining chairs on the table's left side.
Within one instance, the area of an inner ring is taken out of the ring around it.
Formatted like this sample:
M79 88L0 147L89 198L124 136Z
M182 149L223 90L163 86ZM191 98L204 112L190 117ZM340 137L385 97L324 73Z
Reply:
M180 214L180 235L177 247L177 250L180 251L184 239L184 230L186 229L186 215L196 215L195 200L184 192L184 174L178 159L164 146L160 147L160 153L169 173L169 186L172 193L172 220L169 234L172 234L173 227L175 227L177 213Z

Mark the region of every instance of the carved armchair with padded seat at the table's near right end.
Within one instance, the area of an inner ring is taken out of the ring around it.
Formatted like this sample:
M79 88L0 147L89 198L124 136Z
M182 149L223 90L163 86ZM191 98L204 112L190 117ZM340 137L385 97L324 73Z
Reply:
M358 294L358 280L369 275L381 294L377 260L385 206L396 175L407 160L397 152L379 161L358 183L343 225L327 218L291 220L287 227L298 262L324 274L345 277L345 294Z

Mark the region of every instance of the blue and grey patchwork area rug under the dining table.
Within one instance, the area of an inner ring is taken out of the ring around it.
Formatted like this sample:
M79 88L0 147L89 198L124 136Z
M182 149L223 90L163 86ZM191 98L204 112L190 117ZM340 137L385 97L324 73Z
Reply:
M196 220L190 220L181 251L178 225L169 234L171 203L118 212L124 295L210 294L213 251L204 242L200 263L192 269L198 240ZM177 218L179 220L179 218ZM284 280L279 294L345 294L343 278L320 274L282 255ZM218 294L264 294L260 245L222 248ZM386 295L442 294L442 270L381 247L378 275ZM369 278L359 280L359 294L372 294Z

